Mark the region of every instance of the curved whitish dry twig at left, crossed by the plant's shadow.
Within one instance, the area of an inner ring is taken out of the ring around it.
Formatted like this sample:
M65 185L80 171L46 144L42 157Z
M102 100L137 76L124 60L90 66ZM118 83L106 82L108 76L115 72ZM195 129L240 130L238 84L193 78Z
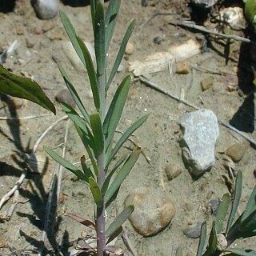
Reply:
M46 134L48 134L50 132L50 130L52 130L54 128L54 126L58 125L59 122L62 122L62 120L65 120L66 118L68 118L67 116L64 116L60 119L58 119L56 122L54 122L51 126L49 126L43 133L42 135L38 138L38 141L35 142L34 144L34 148L33 148L33 154L36 153L36 151L38 150L38 146L39 144L42 142L42 140L46 137ZM1 201L0 201L0 210L2 208L2 206L10 199L10 197L14 194L14 192L16 190L18 190L18 188L22 185L22 182L24 181L24 179L26 178L26 174L27 174L27 170L23 170L22 171L22 175L20 176L20 178L18 179L18 182L15 183L14 187L8 192L6 193Z

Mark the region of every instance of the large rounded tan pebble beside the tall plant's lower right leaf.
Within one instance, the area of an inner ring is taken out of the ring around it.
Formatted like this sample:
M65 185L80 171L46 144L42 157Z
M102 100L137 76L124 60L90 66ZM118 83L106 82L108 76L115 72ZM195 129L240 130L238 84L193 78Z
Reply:
M176 213L168 194L146 187L132 190L125 205L134 205L135 210L129 220L138 234L143 236L157 234L163 230Z

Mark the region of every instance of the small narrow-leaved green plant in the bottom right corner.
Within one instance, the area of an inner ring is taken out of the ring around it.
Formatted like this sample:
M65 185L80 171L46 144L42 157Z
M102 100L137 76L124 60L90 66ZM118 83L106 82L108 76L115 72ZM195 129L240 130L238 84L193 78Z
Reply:
M239 238L250 238L256 235L256 186L250 194L246 209L234 221L235 215L238 212L238 204L242 194L242 172L238 172L235 189L232 198L230 215L226 223L226 228L223 229L226 214L230 206L230 194L222 196L218 213L214 219L208 246L206 244L206 222L202 223L201 236L198 244L197 256L218 256L220 254L255 256L256 251L247 250L238 247L232 247L232 243ZM204 251L205 250L205 251Z

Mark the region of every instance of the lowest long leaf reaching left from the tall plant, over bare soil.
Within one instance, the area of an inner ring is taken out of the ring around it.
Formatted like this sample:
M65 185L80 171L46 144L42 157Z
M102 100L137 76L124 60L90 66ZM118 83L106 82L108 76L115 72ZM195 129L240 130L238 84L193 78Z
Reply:
M62 158L59 154L55 153L53 150L50 150L48 146L43 147L46 150L46 153L50 155L56 162L58 162L61 166L70 170L73 174L75 174L78 178L82 179L82 181L88 184L88 177L82 173L82 170L79 170L77 166L74 166L72 163L66 161L66 159Z

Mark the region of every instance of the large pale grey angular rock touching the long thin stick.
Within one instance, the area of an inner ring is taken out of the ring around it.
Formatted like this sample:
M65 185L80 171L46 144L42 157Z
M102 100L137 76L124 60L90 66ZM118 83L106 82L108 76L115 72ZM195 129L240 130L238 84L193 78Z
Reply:
M219 135L218 119L211 110L197 110L184 114L182 128L182 156L190 174L198 176L215 164L215 142Z

